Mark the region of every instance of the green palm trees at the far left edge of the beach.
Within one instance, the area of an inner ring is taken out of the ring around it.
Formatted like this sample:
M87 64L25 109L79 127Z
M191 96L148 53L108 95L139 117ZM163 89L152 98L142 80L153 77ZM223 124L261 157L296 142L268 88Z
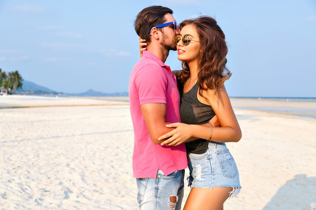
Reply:
M3 72L0 68L0 92L1 94L14 94L14 91L22 88L23 78L18 71Z

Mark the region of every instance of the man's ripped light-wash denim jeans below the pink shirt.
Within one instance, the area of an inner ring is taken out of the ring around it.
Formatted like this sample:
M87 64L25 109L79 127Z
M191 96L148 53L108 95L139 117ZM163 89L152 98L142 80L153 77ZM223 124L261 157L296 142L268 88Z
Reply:
M140 210L181 209L184 194L184 169L167 176L158 170L157 177L136 179L137 200ZM176 196L176 203L171 203L170 196Z

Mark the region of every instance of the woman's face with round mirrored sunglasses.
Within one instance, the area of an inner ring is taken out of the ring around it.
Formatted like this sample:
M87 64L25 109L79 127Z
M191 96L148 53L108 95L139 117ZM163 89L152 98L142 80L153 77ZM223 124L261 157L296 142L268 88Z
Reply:
M177 39L179 41L177 43L178 59L186 61L187 63L197 61L201 48L199 42L200 39L195 27L193 25L184 26L181 29L179 36L180 37ZM191 41L188 41L188 43L185 44L186 40Z

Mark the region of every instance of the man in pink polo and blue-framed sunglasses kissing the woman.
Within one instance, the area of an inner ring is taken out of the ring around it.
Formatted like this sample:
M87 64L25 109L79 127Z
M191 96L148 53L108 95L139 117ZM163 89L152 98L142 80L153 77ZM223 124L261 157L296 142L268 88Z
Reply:
M146 51L135 64L129 83L134 128L133 176L137 180L139 209L181 209L185 145L161 146L158 137L172 130L167 122L180 122L180 96L175 75L165 61L176 50L180 32L173 11L152 6L143 9L134 26L147 40Z

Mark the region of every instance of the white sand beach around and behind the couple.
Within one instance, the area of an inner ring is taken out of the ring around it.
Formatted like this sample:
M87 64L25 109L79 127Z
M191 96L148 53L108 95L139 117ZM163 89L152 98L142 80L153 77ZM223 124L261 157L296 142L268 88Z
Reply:
M242 190L224 209L315 210L316 120L249 103L232 100ZM0 147L0 209L138 209L128 102L0 97Z

